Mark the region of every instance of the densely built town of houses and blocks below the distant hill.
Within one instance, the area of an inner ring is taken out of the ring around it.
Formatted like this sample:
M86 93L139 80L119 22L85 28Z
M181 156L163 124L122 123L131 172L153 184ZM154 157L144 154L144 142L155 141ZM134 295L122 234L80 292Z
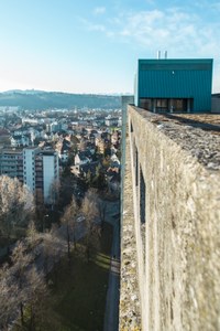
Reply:
M52 203L52 185L66 171L90 181L105 171L109 190L119 190L120 109L2 106L0 128L0 174L16 177L44 203Z

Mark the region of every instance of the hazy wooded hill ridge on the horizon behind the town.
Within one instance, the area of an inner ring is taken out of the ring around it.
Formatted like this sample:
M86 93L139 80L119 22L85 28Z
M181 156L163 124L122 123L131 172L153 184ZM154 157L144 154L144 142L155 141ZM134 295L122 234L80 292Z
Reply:
M19 106L22 109L50 109L88 107L116 109L121 107L121 97L112 95L70 94L43 90L8 90L0 93L0 106Z

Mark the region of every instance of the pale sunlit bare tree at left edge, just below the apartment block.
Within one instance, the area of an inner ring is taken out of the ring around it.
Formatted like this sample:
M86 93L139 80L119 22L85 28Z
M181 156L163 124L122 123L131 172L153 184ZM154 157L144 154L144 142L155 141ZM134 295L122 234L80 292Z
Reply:
M18 179L0 177L0 229L8 239L18 227L25 228L34 210L34 200Z

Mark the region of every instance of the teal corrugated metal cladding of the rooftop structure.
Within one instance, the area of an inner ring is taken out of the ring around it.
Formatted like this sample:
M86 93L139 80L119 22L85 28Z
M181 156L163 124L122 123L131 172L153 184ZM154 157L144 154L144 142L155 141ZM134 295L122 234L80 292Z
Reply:
M193 111L211 109L212 60L139 60L135 105L140 98L190 98Z

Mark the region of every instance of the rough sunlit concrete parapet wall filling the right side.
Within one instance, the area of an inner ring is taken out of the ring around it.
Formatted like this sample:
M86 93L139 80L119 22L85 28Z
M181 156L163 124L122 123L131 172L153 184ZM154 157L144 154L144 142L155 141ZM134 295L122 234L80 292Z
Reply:
M138 110L129 108L124 194L133 195L142 330L220 330L220 136Z

